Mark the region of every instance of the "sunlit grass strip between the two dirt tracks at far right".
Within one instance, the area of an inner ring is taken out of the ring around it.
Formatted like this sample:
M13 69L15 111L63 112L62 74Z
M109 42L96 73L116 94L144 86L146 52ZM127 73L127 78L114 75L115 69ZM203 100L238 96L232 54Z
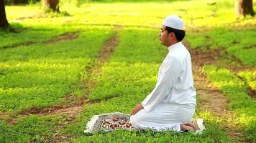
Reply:
M246 139L256 142L256 102L248 95L247 84L229 69L204 66L204 72L214 86L229 98L229 107L236 115L233 124L244 132Z

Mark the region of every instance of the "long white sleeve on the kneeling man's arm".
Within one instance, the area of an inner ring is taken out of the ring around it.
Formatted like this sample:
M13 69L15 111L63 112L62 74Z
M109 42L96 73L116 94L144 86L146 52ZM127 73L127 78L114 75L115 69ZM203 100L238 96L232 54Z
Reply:
M161 68L162 73L155 85L155 89L142 102L142 106L146 112L154 109L170 93L170 89L173 87L173 80L177 79L180 73L181 65L178 59L170 57L168 63L164 64Z

